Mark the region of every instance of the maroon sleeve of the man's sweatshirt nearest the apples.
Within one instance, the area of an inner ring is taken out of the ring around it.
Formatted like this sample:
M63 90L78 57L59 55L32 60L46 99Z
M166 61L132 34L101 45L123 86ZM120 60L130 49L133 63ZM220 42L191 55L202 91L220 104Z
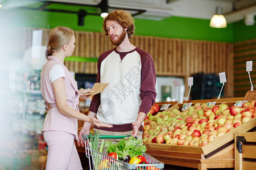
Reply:
M147 56L142 58L142 69L141 69L141 105L139 112L148 113L155 103L156 97L156 74L154 61L149 53Z

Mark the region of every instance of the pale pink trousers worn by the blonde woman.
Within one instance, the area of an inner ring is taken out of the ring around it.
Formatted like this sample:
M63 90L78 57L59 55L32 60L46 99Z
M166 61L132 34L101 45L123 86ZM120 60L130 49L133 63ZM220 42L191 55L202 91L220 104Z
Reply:
M46 170L82 169L73 134L44 131L43 135L48 145Z

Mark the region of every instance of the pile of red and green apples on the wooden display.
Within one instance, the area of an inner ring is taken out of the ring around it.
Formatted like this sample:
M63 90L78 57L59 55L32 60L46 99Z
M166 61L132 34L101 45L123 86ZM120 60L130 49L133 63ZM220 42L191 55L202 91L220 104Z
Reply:
M256 101L256 100L255 100ZM144 120L143 142L167 145L204 146L256 116L256 102L242 107L226 104L195 104L180 112L178 109L152 114Z

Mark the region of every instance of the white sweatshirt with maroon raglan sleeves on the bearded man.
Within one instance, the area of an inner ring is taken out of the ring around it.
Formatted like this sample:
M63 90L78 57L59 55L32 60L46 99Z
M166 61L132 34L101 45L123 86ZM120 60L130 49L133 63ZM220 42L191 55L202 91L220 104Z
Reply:
M130 131L138 113L147 114L155 103L156 74L151 55L140 48L118 52L116 48L98 58L97 82L109 83L103 92L94 95L89 111L113 128L108 131ZM143 131L142 126L139 129Z

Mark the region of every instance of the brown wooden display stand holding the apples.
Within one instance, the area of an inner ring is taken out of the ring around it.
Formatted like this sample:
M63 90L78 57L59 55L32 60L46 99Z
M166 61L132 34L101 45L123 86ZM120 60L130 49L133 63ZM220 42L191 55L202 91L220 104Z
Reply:
M243 100L243 97L218 99L216 105L225 103L229 107L236 101ZM213 100L194 100L196 103L208 103ZM192 104L192 105L193 105ZM166 111L173 111L181 108L183 104L176 104ZM164 164L177 165L181 167L208 169L208 168L234 168L234 134L245 133L255 128L256 118L228 131L226 134L218 137L204 146L184 146L184 145L167 145L165 143L144 143L147 147L147 154L160 160Z

